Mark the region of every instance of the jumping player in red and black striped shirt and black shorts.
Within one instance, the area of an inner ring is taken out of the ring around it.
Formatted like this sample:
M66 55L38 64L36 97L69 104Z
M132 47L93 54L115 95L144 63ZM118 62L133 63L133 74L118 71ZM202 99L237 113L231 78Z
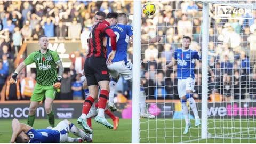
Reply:
M85 132L92 133L92 130L87 125L86 115L94 102L94 99L98 98L98 85L100 86L99 96L99 111L95 117L95 121L113 129L113 125L108 123L104 116L104 110L108 100L109 93L109 73L107 64L111 63L115 57L116 52L116 35L113 30L109 28L110 25L116 24L118 13L108 13L105 20L96 23L89 35L88 47L89 52L84 64L84 72L87 79L87 85L89 89L89 97L86 98L83 105L83 114L78 118L77 123L83 127ZM111 38L112 52L109 54L106 60L106 47L103 45L103 39L108 35Z

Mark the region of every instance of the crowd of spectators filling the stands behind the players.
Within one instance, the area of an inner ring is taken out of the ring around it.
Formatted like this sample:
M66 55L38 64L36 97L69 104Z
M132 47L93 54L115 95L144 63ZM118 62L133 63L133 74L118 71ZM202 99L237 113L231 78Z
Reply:
M202 4L162 1L155 5L155 15L150 18L142 15L142 38L161 36L162 40L141 47L143 86L149 99L179 99L176 67L166 65L173 61L173 52L181 47L185 35L192 38L191 49L202 52ZM215 19L214 5L210 9L209 66L214 75L209 74L209 100L254 99L256 11L253 11L253 19L250 15L241 16L243 19ZM97 11L127 13L132 24L132 1L0 1L0 89L14 71L13 60L22 43L38 40L44 34L54 39L81 39L82 50L70 57L73 65L63 74L57 99L83 99L80 73L86 57L86 39ZM129 44L131 61L132 55L132 44ZM202 93L201 64L196 61L196 99L201 99ZM19 79L17 85L6 84L6 99L27 99L29 96L23 91L34 85L35 74L23 73ZM118 94L131 99L130 82L121 77L117 89Z

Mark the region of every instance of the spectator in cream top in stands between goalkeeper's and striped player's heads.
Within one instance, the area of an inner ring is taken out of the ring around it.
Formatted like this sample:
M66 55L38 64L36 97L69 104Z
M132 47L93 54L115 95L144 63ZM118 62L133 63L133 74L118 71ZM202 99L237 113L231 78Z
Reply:
M81 23L77 23L76 18L73 19L72 24L68 27L68 37L71 39L79 39L81 35Z

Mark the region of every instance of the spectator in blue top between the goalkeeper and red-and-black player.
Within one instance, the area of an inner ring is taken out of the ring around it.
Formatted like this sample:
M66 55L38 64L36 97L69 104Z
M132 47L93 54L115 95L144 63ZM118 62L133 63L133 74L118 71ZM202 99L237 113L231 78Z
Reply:
M72 83L71 89L73 90L73 100L82 100L83 83L81 80L81 74L76 75L76 81Z

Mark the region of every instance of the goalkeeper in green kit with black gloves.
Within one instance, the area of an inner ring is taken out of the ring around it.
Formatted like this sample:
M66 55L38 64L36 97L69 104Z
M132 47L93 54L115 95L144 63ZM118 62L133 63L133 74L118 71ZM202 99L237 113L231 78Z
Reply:
M36 63L36 86L30 99L28 125L33 127L35 121L35 112L39 102L45 99L44 108L48 116L50 126L54 127L54 113L52 111L53 100L55 99L56 91L61 86L61 79L64 68L61 59L57 52L47 49L49 40L47 36L39 38L39 51L31 53L15 70L10 78L10 83L16 82L17 75L20 71L31 63ZM57 67L59 73L57 77Z

